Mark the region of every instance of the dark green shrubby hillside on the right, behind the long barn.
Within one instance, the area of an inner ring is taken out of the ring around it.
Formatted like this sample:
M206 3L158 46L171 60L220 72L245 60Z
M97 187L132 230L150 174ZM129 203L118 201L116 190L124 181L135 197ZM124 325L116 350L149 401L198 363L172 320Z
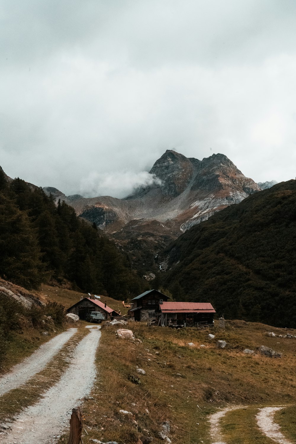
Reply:
M214 214L165 252L174 297L211 302L219 315L296 327L296 181Z

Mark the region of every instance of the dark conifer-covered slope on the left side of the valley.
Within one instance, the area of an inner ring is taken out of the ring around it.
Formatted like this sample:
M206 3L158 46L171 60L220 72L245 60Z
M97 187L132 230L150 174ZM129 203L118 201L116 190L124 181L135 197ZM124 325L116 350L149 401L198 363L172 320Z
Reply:
M0 171L0 276L27 289L67 279L80 289L121 299L145 289L95 224L71 206Z

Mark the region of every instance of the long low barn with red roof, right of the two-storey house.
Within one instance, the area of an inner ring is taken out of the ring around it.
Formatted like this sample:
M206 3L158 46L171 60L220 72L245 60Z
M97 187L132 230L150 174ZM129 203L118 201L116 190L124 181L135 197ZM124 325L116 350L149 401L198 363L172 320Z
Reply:
M208 302L162 302L155 313L158 319L160 318L161 325L189 327L213 325L216 311Z

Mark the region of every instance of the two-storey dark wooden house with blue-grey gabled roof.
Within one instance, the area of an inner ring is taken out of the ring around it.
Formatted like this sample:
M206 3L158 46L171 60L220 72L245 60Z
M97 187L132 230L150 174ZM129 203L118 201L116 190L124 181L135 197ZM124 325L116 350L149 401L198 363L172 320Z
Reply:
M169 299L166 294L158 290L148 290L139 294L131 300L131 309L128 314L134 317L135 321L147 321L155 319L155 310L159 304Z

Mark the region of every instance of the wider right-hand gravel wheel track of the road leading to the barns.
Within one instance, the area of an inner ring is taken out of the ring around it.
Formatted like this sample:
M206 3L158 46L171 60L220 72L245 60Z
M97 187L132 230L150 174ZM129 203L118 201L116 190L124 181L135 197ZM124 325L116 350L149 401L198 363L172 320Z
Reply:
M100 327L89 329L73 352L71 364L56 385L44 398L28 407L11 430L1 437L3 444L50 444L55 443L69 425L72 408L77 406L93 386L96 369L95 353L101 336Z

